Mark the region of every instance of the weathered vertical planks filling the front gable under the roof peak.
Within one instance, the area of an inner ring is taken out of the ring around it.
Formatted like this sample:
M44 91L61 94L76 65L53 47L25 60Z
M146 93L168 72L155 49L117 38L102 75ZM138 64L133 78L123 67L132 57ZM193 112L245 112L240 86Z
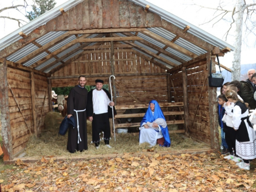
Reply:
M85 0L46 24L47 31L160 27L161 17L127 0Z

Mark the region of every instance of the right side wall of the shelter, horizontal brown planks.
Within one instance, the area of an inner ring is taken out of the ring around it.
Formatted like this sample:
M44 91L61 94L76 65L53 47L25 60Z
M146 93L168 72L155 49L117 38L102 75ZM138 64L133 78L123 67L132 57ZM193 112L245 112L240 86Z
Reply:
M206 78L206 81L205 81ZM174 102L183 102L182 90L182 73L181 70L170 75L172 83L170 83L171 100ZM209 99L208 99L208 80L207 80L206 59L200 62L193 63L187 67L187 90L188 90L188 111L189 121L188 129L189 136L199 139L210 144L210 117L209 117ZM204 85L205 84L205 85ZM204 85L204 86L203 86ZM175 94L176 92L176 94ZM200 96L201 100L200 100ZM200 101L200 103L199 103ZM195 118L197 107L198 112ZM195 118L195 122L193 124ZM191 127L193 124L193 127Z

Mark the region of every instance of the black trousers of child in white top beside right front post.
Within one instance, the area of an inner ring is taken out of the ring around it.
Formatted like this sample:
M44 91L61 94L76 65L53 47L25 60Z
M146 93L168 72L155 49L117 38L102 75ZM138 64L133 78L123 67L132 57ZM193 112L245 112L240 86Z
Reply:
M234 155L236 155L237 131L234 131L233 127L227 126L226 123L223 123L223 131L225 132L225 140L228 146L229 153L232 153L234 151Z

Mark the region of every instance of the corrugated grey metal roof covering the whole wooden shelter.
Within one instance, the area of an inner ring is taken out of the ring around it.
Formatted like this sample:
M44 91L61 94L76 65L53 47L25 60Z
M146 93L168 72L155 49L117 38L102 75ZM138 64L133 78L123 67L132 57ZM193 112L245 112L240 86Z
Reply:
M60 5L57 8L54 8L50 11L48 11L47 13L37 17L36 19L32 20L32 22L30 22L29 24L23 26L22 28L19 28L18 30L14 31L13 33L7 35L6 37L4 37L3 39L0 39L0 50L4 49L5 47L7 47L8 45L10 45L12 42L17 41L18 39L22 38L18 35L18 32L23 31L25 34L29 34L32 30L36 29L37 27L46 24L49 20L51 20L52 18L58 16L60 13L59 9L60 8L64 8L64 10L68 10L74 6L76 6L77 4L81 3L83 0L70 0L68 2L66 2L65 4ZM173 23L174 25L178 26L181 29L184 29L187 25L190 27L190 29L188 30L188 33L191 33L195 36L198 36L199 38L209 42L211 45L225 48L225 47L229 47L232 50L234 49L232 46L228 45L226 42L204 32L203 30L185 22L184 20L180 19L179 17L168 13L160 8L158 8L155 5L152 5L146 1L143 0L129 0L131 2L134 2L142 7L145 7L146 5L150 5L150 11L160 15L163 19L167 20L168 22ZM153 28L147 28L148 30L150 30L151 32L163 37L164 39L171 41L173 40L173 38L176 37L176 35L172 32L169 32L161 27L153 27ZM52 40L56 39L57 37L61 36L62 34L65 34L67 31L53 31L53 32L48 32L47 34L45 34L44 36L38 38L35 40L35 42L37 42L40 46L44 46L46 44L48 44L49 42L51 42ZM135 35L135 32L131 32L132 34ZM126 35L124 35L123 33L117 33L118 35L125 37ZM78 37L82 36L83 34L78 34ZM98 34L91 34L89 37L87 38L94 38L96 37ZM145 35L141 32L139 32L137 34L138 37L143 38L144 40L150 42L151 44L153 44L154 46L158 46L160 48L164 48L165 44L163 44L162 42L159 42L158 40L155 40L154 38ZM104 36L105 37L105 36ZM75 35L70 35L69 37L62 39L58 42L58 44L55 44L54 46L50 47L48 49L48 51L50 52L54 52L58 49L63 48L63 46L69 44L72 40L76 39L77 36ZM122 44L125 44L123 42L121 42ZM145 44L143 44L142 42L140 42L139 40L134 41L134 43L136 45L139 45L140 47L142 47L145 50L151 51L155 54L158 53L158 51L156 49L150 46L147 46ZM84 42L82 43L84 44ZM92 46L95 45L96 42L91 42L88 46ZM183 38L178 38L174 44L185 48L186 50L195 53L196 55L200 55L200 54L204 54L206 53L205 50L203 50L202 48L192 44L191 42L183 39ZM80 43L76 43L72 46L70 46L69 48L67 48L66 50L62 50L60 53L58 53L56 56L57 57L63 57L65 55L68 55L71 51L73 51L74 49L78 48L81 44ZM13 61L13 62L17 62L18 60L22 59L23 57L27 56L28 54L34 52L35 50L37 50L38 47L33 45L33 44L29 44L26 45L25 47L23 47L22 49L18 50L17 52L15 52L14 54L10 55L7 57L8 60ZM144 53L143 51L137 49L137 48L132 48L140 53L142 53L143 55L146 55L150 58L153 58L152 55ZM183 60L191 60L192 58L179 52L179 50L175 50L173 48L167 47L165 49L167 52L175 54L176 56L182 58ZM68 59L70 59L71 57L73 57L76 54L81 53L83 50L79 50L76 53L70 55L69 57L63 59L62 61L67 61ZM42 52L38 55L36 55L34 58L31 58L30 60L27 60L23 65L24 66L31 66L33 65L33 63L40 61L41 59L45 58L47 55L49 55L46 52ZM181 62L161 53L159 54L160 57L163 57L167 60L169 60L170 62L176 63L177 65L180 65ZM168 68L172 68L172 66L168 65L167 63L161 61L160 59L155 58L156 61L162 63L163 65L167 66ZM37 66L35 69L37 70L42 70L45 67L47 67L48 65L52 65L51 63L56 62L56 58L52 57L48 60L46 60L45 62L41 63L39 66ZM58 62L56 63L54 66L52 66L51 68L45 70L45 72L50 72L52 69L54 69L55 67L61 65L62 62Z

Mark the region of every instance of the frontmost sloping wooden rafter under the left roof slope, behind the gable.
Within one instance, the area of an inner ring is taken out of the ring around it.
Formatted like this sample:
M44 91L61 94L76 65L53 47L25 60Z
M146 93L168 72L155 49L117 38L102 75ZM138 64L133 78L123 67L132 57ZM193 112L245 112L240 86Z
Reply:
M49 49L50 47L54 46L54 45L55 45L56 43L58 43L59 41L64 40L64 39L66 39L66 38L68 38L68 37L69 37L69 36L67 35L67 33L65 33L65 34L63 34L63 35L60 35L59 37L57 37L57 38L53 39L52 41L48 42L46 45L41 46L39 49L33 51L32 53L28 54L27 56L25 56L25 57L23 57L23 58L21 58L21 59L19 59L19 60L17 61L17 63L23 64L23 63L25 63L27 60L30 60L30 59L34 58L36 55L40 54L41 52L43 52L43 51L46 51L46 52L47 52L47 51L48 51L47 49ZM49 52L50 52L50 51L49 51ZM51 54L51 52L48 53L48 54Z

